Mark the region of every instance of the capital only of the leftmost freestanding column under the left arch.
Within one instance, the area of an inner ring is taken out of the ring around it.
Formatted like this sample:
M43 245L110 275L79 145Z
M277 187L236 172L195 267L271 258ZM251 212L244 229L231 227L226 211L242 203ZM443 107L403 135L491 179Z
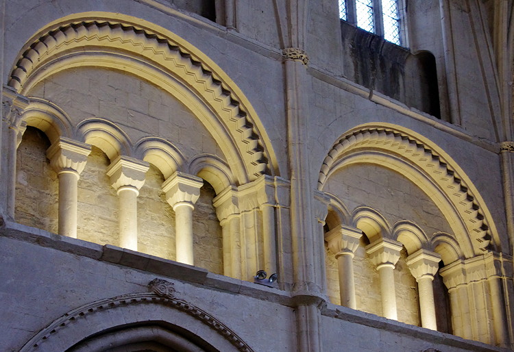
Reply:
M61 137L47 149L47 158L53 171L60 173L82 173L88 155L91 153L89 144Z

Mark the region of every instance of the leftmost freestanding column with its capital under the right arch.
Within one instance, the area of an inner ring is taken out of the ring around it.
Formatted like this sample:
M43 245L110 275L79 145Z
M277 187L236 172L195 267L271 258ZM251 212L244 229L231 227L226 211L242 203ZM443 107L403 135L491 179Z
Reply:
M363 232L353 227L339 225L325 234L328 249L336 255L339 269L339 294L341 305L357 309L354 281L354 254Z

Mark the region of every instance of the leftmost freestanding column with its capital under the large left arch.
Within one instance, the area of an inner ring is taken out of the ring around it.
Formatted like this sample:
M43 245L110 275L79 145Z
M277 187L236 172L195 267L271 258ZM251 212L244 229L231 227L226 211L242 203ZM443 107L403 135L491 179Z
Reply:
M59 178L59 234L77 238L79 175L86 166L91 146L61 137L47 150L50 166Z

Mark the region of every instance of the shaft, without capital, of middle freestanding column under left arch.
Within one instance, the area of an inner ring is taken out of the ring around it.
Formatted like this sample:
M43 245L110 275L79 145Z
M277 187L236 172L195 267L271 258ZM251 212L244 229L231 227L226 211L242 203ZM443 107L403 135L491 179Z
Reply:
M138 250L138 190L124 186L118 189L120 247Z

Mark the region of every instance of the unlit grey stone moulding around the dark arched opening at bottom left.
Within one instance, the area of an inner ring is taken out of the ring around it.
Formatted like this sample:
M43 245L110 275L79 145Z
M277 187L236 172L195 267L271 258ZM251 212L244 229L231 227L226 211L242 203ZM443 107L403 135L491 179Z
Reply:
M253 351L245 341L217 318L178 298L172 282L154 279L149 282L148 288L150 292L123 294L77 307L53 320L45 329L31 338L20 351L69 351L70 349L75 351L78 347L80 347L79 351L89 351L88 345L93 346L95 340L108 338L108 334L112 334L112 331L120 331L119 336L112 339L119 343L119 339L124 335L133 337L138 329L154 326L149 325L150 323L173 325L179 334L195 336L197 342L208 344L210 350ZM159 325L155 326L162 329ZM130 330L132 334L123 332ZM168 333L172 335L173 331ZM162 340L162 335L165 334L166 331L164 334L158 334L161 336L154 337L161 337L160 340ZM92 343L91 340L93 340Z

